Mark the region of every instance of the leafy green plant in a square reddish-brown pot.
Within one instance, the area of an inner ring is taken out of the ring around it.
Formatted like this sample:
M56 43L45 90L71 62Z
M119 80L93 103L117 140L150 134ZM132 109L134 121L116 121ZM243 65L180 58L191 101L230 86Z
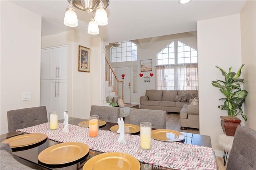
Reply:
M241 120L236 116L241 115L246 121L246 115L242 111L242 104L245 102L245 97L248 92L246 90L242 90L240 84L244 82L244 79L238 78L242 73L242 66L238 69L238 71L231 72L230 67L228 69L228 73L222 68L216 66L216 68L220 69L222 75L225 77L225 80L215 80L212 81L212 85L220 88L220 92L224 94L225 98L220 98L219 100L225 100L224 104L218 106L218 108L222 110L227 110L228 116L221 116L221 125L224 133L228 136L234 136L236 131L236 127L240 125Z

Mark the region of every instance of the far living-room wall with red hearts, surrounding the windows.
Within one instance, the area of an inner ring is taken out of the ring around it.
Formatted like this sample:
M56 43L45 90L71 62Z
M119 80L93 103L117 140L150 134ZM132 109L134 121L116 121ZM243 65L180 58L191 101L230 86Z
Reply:
M180 41L190 45L197 49L197 41L196 35L190 33L179 33L174 35L166 35L162 37L155 37L150 43L148 43L148 47L143 48L138 43L138 40L134 40L132 42L137 44L137 61L129 61L129 62L118 62L118 63L110 63L112 67L131 67L131 103L132 104L140 104L140 96L144 96L146 94L146 90L148 89L156 89L155 88L155 66L156 66L156 54L164 49L167 45L169 45L173 40L179 39ZM140 42L142 40L139 40ZM145 43L144 43L145 44ZM144 45L143 44L143 45ZM112 43L107 47L107 57L110 61L110 47L112 47ZM152 59L152 71L140 72L140 61ZM132 89L132 66L138 66L138 93L133 93ZM140 77L139 74L142 73L143 76ZM154 75L151 77L150 73ZM150 77L150 82L144 82L144 77Z

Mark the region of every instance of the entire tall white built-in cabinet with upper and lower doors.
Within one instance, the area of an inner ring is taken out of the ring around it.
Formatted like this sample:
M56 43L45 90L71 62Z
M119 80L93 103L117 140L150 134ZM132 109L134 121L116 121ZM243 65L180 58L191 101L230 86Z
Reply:
M49 112L58 111L58 119L64 119L67 109L67 60L68 47L41 51L40 106Z

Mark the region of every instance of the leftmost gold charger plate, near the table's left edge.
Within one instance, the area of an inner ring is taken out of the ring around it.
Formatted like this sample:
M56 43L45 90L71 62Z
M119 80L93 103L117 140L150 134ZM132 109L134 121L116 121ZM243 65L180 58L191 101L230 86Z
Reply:
M29 133L8 138L2 143L8 143L11 148L26 147L44 141L47 135L42 133Z

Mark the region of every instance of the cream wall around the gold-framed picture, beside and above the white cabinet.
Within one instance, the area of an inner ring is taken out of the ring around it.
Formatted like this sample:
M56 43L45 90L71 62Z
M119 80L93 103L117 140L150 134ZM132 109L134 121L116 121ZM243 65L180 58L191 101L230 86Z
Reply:
M68 31L42 37L42 48L68 45L68 100L70 117L89 118L91 105L102 105L104 94L103 40ZM90 49L90 72L78 71L79 45ZM103 92L102 92L103 91Z

